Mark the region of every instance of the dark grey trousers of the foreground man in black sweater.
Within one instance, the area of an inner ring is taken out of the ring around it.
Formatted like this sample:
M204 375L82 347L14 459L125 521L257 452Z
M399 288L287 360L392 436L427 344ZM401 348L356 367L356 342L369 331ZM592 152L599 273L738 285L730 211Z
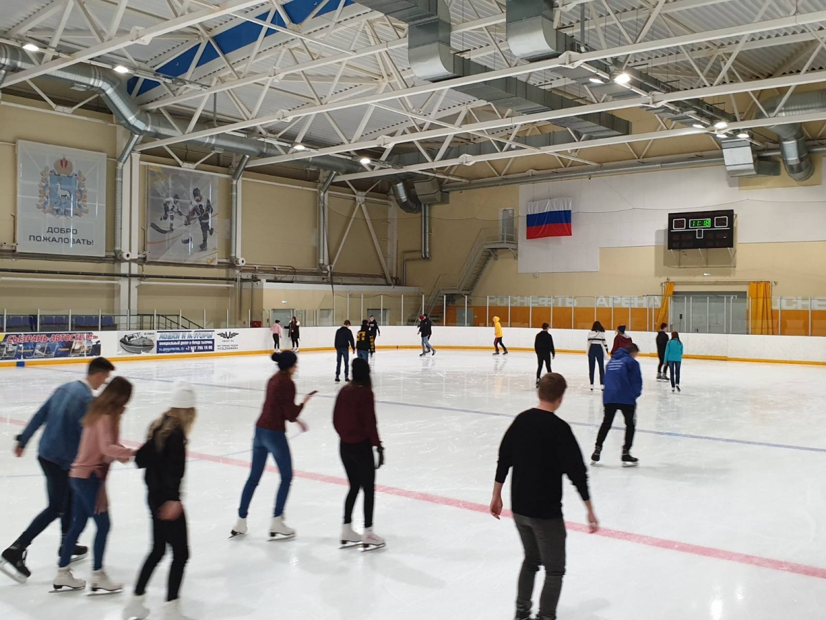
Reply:
M537 620L556 620L565 575L565 522L561 518L538 519L520 514L514 514L514 521L525 547L525 561L522 562L516 591L516 609L518 612L530 612L534 577L539 565L544 565L545 583L539 595Z

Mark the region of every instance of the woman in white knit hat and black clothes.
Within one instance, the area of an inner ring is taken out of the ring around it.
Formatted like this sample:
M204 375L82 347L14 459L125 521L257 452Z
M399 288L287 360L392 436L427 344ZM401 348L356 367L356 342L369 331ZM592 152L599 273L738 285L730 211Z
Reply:
M181 503L181 483L187 464L187 441L195 422L195 389L179 380L172 389L169 409L150 425L146 442L135 453L135 465L146 470L146 501L152 519L152 550L140 570L135 594L123 610L124 620L143 620L150 615L145 605L146 586L152 573L172 547L172 564L164 604L164 618L185 620L180 613L178 594L183 570L189 560L187 517Z

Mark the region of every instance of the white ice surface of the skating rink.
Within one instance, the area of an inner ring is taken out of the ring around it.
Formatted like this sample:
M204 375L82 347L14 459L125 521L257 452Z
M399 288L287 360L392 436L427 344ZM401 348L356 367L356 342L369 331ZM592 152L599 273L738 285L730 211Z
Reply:
M247 469L243 463L192 460L185 502L192 559L182 594L189 615L196 620L512 618L521 561L515 527L510 519L496 522L474 508L490 499L496 449L510 417L534 403L534 359L481 351L440 351L424 359L416 351L378 352L374 389L387 465L377 483L428 494L377 494L375 527L388 543L383 551L339 550L345 489L319 476L293 480L287 522L297 528L297 539L266 541L278 485L278 474L269 471L254 498L249 535L227 540ZM821 526L826 371L686 360L683 392L673 395L670 387L654 382L656 362L641 361L645 385L638 428L648 431L638 432L634 444L641 466L619 466L622 432L615 430L604 465L591 469L602 526L638 536L629 541L622 540L623 533L569 532L559 618L826 618ZM293 426L290 435L297 472L341 479L330 424L334 368L333 355L301 354L299 392L320 393L305 413L310 432L296 436ZM594 425L601 421L601 393L587 389L583 356L558 355L553 368L569 382L559 413L572 422L587 457ZM16 459L12 437L56 385L82 371L80 365L0 371L0 446L5 446L0 547L45 506L36 441ZM173 379L183 378L199 390L190 451L247 461L263 386L272 372L269 360L256 357L120 363L118 374L136 387L123 438L140 441L150 420L164 410ZM619 416L615 424L622 426ZM112 532L106 566L131 586L149 549L145 487L140 472L117 465L108 489ZM567 520L582 523L582 503L567 483L565 494ZM439 498L458 502L439 503ZM357 520L360 511L359 501ZM91 545L92 535L90 523L81 542ZM58 540L55 522L32 544L27 584L0 575L0 618L120 618L128 588L97 598L46 594ZM781 570L782 562L800 566ZM88 579L90 560L74 570ZM164 561L150 583L153 608L163 601L166 573ZM534 598L539 584L540 579Z

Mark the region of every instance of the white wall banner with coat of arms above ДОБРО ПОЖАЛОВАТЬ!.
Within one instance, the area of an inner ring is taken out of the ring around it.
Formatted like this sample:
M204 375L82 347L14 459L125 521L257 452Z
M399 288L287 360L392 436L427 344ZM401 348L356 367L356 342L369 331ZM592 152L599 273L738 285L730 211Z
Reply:
M17 251L106 255L106 154L17 141Z

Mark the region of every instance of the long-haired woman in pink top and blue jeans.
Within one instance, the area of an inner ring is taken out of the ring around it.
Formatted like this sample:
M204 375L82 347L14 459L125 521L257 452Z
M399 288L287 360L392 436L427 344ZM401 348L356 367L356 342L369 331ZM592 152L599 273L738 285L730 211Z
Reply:
M92 591L118 592L123 589L103 570L103 555L109 536L109 511L106 479L109 466L115 460L127 463L135 451L121 445L121 416L132 396L132 384L123 377L115 377L100 396L89 405L83 417L83 435L80 437L78 455L69 472L72 485L72 526L66 534L59 568L55 575L55 591L83 589L86 582L75 579L69 568L72 549L90 518L97 527L94 543Z

